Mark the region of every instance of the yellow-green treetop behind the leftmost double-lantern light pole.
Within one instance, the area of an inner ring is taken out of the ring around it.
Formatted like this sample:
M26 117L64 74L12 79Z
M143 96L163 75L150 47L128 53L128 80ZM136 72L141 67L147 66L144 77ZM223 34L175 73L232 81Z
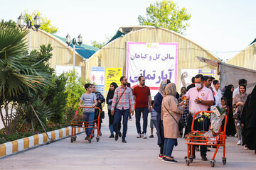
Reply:
M58 28L52 26L52 24L50 23L50 19L43 17L43 15L39 11L33 11L32 13L28 13L28 10L25 10L24 14L25 21L28 21L28 19L30 19L32 21L32 25L34 23L33 18L35 18L36 15L40 16L42 21L40 29L46 31L47 33L57 33Z

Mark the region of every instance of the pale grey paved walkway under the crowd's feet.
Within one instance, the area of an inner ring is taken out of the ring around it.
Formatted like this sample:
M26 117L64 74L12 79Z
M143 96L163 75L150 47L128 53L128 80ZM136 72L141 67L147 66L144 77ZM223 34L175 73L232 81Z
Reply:
M78 135L74 143L70 143L70 138L66 138L0 159L0 169L212 169L210 161L201 161L200 152L196 152L197 158L187 166L183 159L186 154L185 140L181 138L178 139L178 146L174 147L173 152L178 163L161 162L158 159L159 147L156 145L156 137L146 140L136 138L134 116L133 120L129 121L126 144L120 139L114 141L113 138L109 138L107 123L106 118L99 142L94 138L89 144L84 140L84 134ZM236 139L236 137L228 137L227 164L222 163L223 149L220 149L214 169L255 169L256 154L235 145ZM213 156L214 150L208 152L208 159Z

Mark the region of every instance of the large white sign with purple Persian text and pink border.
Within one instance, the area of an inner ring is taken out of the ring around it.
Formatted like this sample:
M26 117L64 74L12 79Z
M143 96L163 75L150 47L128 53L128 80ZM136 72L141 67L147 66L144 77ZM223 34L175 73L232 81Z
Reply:
M177 59L178 42L127 42L127 79L136 86L139 76L144 76L155 96L163 79L176 84Z

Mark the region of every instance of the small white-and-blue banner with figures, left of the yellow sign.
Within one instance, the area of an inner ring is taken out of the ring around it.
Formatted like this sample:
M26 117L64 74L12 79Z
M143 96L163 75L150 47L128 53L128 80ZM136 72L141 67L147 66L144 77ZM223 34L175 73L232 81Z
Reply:
M91 83L97 85L97 90L104 94L105 67L91 67Z

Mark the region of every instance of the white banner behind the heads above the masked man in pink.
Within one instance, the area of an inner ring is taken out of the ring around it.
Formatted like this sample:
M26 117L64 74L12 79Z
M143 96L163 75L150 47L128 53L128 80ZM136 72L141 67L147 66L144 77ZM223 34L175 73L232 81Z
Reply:
M181 87L187 87L188 85L192 84L191 79L197 74L214 77L214 69L181 69Z

